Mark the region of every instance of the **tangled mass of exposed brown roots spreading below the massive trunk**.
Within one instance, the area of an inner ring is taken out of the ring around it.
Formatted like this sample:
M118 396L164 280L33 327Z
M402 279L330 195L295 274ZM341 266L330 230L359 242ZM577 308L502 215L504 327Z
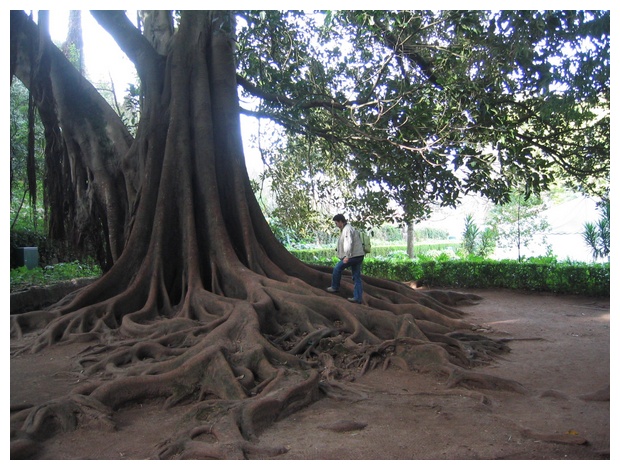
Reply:
M17 336L46 325L35 351L98 341L77 359L73 395L19 412L15 455L57 432L113 429L115 410L156 399L164 407L194 404L188 426L160 445L159 458L274 456L286 449L261 447L261 430L321 395L365 399L367 391L353 382L378 367L447 373L450 387L524 393L516 382L467 370L508 351L505 342L471 333L475 326L452 306L478 299L390 291L380 283L369 286L367 295L376 295L369 305L354 305L298 281L254 275L244 289L247 299L199 291L183 307L133 301L138 309L121 314L116 308L128 301L122 294L91 309L12 318Z

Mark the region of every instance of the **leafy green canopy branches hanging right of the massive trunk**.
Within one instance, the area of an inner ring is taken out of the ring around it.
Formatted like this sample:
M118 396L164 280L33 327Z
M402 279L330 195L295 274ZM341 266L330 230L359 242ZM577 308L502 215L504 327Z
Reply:
M558 179L609 188L608 11L241 17L239 82L261 98L244 112L286 129L286 155L312 136L299 172L333 183L344 170L342 204L362 220L415 219L467 193L505 202Z

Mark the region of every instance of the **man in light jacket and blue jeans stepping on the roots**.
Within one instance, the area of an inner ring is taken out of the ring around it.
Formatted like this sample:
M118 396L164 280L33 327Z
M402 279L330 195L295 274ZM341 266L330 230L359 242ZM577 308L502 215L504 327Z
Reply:
M327 292L338 292L340 290L340 278L342 271L351 268L353 274L353 297L348 298L349 302L362 303L362 263L364 262L364 247L359 233L347 223L347 219L342 214L336 214L333 218L336 226L340 229L338 248L336 256L340 259L332 274L332 285L327 288Z

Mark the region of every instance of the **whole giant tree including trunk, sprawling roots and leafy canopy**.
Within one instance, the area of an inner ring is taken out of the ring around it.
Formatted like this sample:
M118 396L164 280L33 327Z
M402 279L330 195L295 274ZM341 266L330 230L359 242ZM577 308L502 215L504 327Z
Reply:
M327 294L331 269L301 263L278 242L244 166L238 85L269 102L269 115L277 122L320 137L334 151L355 149L338 154L357 165L357 181L374 181L361 193L368 204L385 194L400 197L403 205L416 198L418 203L450 202L463 188L499 195L514 178L535 181L532 175L542 171L542 163L529 173L519 156L507 167L522 171L513 172L508 183L502 179L507 170L487 176L490 162L487 166L473 149L487 142L475 136L492 134L488 124L474 126L467 146L457 138L463 134L459 126L467 126L472 116L478 119L471 113L479 103L466 99L472 90L464 87L457 114L446 113L448 101L435 101L431 93L446 84L438 87L436 70L420 68L415 54L402 48L410 42L387 47L395 64L402 62L400 69L408 71L403 79L416 93L403 89L402 96L393 94L399 88L386 73L399 68L385 55L378 54L384 65L375 67L373 57L386 47L386 31L402 30L408 38L414 20L433 15L386 14L385 21L378 21L377 13L342 15L333 17L333 29L322 30L301 13L250 12L240 15L247 29L241 29L239 41L229 11L153 12L157 21L145 21L142 30L122 12L93 15L136 65L143 97L135 137L51 44L47 30L23 12L11 12L11 77L32 92L49 131L48 144L53 144L46 155L63 169L59 178L70 193L67 205L52 210L78 232L99 235L110 263L98 281L49 309L11 317L12 334L22 338L23 352L59 341L95 342L79 359L86 377L71 394L14 416L23 437L15 446L23 449L44 439L50 429L87 421L110 425L115 409L148 398L165 406L193 404L178 435L162 436L160 457L282 452L256 445L264 426L322 393L346 388L341 379L391 355L411 369L447 374L453 386L523 390L470 369L505 346L468 333L475 326L453 307L462 298L457 294L422 293L371 278L364 279L364 305L346 301L350 280L343 285L343 297ZM460 25L461 16L441 13L442 27ZM512 20L509 15L500 26ZM591 34L590 21L604 24L605 15L570 17L566 28L574 35L580 25ZM451 31L422 30L432 40ZM343 62L342 55L332 54L336 31L351 37L354 60ZM326 42L333 35L332 52L314 49L315 32L323 32ZM502 34L514 34L512 26ZM602 47L606 34L603 29ZM447 82L453 91L457 72L468 84L473 70L457 67L470 50L471 43L465 42L460 54L448 48L444 58L456 61L443 69L452 71ZM371 47L361 47L365 44ZM538 41L526 44L532 51L539 46ZM360 68L365 61L368 68ZM339 64L345 67L342 76L336 74ZM524 94L529 76L525 81L522 90L513 92ZM354 89L347 94L350 83ZM516 110L532 111L514 100L510 105L515 115ZM410 108L413 114L405 112ZM422 127L414 124L418 114ZM471 152L454 156L449 149ZM446 167L453 159L459 160ZM450 169L462 165L470 169L464 183ZM397 168L416 176L405 179L401 172L392 178L390 170ZM37 334L29 334L33 330Z

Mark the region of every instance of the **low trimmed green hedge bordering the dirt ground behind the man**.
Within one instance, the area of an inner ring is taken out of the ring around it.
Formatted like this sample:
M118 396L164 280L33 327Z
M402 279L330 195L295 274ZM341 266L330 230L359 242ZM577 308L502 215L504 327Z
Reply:
M333 265L335 257L306 260ZM610 266L578 262L518 262L515 260L414 261L367 258L363 274L443 288L508 288L556 294L609 297Z

